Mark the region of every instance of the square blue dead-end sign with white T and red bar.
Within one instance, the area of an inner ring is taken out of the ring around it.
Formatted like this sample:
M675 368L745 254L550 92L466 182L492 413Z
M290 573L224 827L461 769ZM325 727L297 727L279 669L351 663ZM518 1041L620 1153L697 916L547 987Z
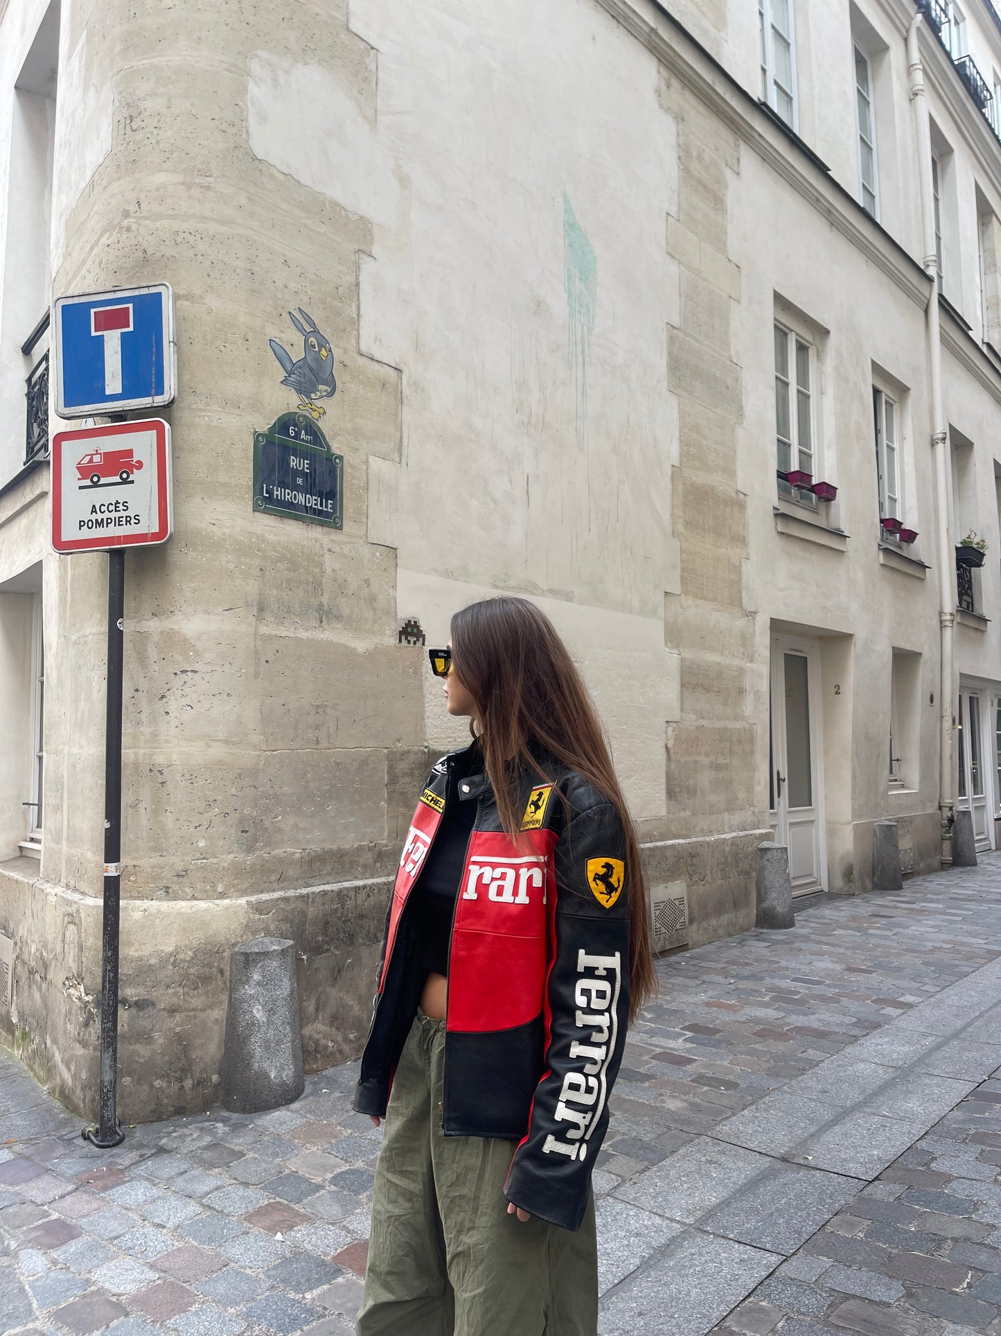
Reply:
M55 357L60 417L172 403L178 357L170 285L56 298Z

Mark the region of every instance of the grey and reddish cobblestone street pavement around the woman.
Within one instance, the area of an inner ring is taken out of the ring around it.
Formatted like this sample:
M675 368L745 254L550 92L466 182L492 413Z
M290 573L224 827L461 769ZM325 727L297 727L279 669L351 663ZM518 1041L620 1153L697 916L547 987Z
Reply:
M1001 858L661 981L595 1170L602 1336L1001 1336ZM0 1057L0 1333L344 1336L379 1148L355 1070L97 1152Z

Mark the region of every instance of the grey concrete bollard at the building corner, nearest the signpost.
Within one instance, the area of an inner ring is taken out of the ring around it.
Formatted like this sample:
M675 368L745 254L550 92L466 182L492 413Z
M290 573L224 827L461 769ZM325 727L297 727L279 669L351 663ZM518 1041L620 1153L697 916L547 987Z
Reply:
M294 942L259 937L230 953L220 1085L234 1113L276 1109L306 1089Z

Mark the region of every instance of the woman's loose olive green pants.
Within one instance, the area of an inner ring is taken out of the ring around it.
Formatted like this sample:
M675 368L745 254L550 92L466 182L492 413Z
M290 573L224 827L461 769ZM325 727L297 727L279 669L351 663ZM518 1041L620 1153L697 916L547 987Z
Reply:
M418 1011L375 1170L358 1336L597 1336L594 1200L577 1232L507 1214L517 1142L442 1132L444 1021Z

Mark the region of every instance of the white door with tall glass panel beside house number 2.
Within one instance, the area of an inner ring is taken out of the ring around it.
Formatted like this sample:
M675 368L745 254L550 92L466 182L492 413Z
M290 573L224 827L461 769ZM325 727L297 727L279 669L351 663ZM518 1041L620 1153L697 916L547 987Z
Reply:
M819 655L809 640L771 641L771 828L789 850L793 895L827 888L818 741Z

